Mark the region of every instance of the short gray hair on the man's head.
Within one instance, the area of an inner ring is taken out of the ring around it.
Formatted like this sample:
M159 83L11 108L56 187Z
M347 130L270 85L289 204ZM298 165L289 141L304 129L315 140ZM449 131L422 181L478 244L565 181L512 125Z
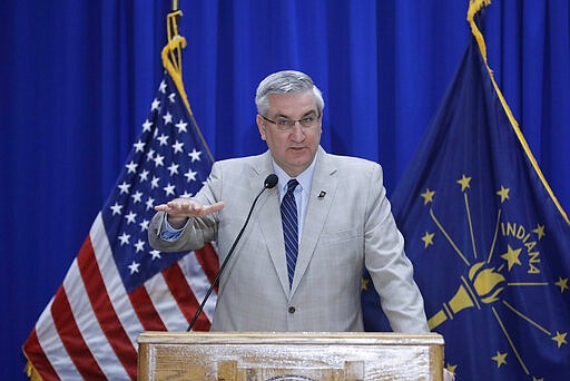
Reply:
M325 108L323 94L318 87L315 86L309 76L295 70L274 72L262 80L257 87L257 91L255 92L255 106L257 106L257 113L259 115L267 116L271 95L304 92L308 90L312 90L315 96L318 114L323 114L323 109Z

